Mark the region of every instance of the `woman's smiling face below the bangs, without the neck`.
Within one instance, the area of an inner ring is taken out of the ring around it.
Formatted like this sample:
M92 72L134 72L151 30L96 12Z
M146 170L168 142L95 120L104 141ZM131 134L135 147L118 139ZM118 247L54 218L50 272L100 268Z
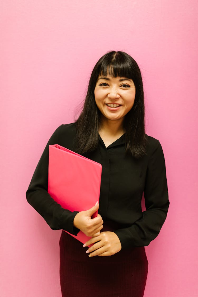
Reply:
M123 120L133 107L135 85L129 78L99 76L94 95L96 105L105 118L114 121Z

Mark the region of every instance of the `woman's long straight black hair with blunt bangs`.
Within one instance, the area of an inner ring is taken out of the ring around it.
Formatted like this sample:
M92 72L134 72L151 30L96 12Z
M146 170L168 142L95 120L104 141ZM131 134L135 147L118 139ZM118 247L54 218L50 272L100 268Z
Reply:
M96 63L89 80L83 110L76 121L77 150L80 154L93 151L99 142L100 111L96 105L94 89L99 75L125 77L135 85L135 100L132 109L124 118L126 153L140 158L146 153L144 91L140 68L127 53L111 51Z

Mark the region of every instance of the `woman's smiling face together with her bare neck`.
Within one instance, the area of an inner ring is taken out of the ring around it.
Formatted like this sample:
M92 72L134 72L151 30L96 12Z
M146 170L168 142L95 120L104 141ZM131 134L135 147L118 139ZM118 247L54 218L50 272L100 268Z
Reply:
M109 146L124 134L123 121L134 105L135 85L133 80L128 78L99 77L94 96L101 112L99 134L105 146Z

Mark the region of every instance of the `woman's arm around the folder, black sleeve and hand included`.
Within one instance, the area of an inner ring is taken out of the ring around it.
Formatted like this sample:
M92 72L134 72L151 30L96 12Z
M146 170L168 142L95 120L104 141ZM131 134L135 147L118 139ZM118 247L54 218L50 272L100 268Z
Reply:
M91 216L98 210L99 205L93 206L87 211L72 212L62 208L47 192L49 145L60 143L60 135L62 137L64 135L61 134L63 126L61 125L56 129L45 147L26 192L27 201L45 219L51 229L63 229L74 235L77 235L81 230L88 236L96 236L100 234L100 230L103 228L103 220L99 214L94 219L91 219ZM67 142L71 147L73 138L69 139L68 137Z

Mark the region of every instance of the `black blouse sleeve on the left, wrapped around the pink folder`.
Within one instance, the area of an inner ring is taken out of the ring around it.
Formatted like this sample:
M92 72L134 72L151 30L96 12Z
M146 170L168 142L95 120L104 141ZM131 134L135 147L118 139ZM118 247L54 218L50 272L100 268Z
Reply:
M62 208L47 192L49 145L59 143L59 134L62 126L56 129L48 141L34 171L26 192L26 198L28 203L45 219L51 229L63 229L77 235L79 229L73 226L73 220L77 211L71 212Z

